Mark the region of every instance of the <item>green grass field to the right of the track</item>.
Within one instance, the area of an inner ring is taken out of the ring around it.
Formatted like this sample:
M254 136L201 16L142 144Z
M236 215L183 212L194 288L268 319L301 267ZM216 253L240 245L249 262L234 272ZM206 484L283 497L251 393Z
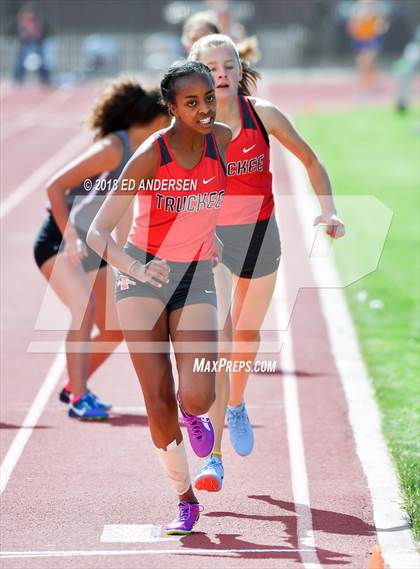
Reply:
M419 109L404 116L391 108L313 113L299 115L296 126L327 166L337 196L373 195L393 212L377 270L345 293L400 475L403 507L419 539ZM336 259L342 276L354 281L354 265L369 261L369 244L377 243L384 220L360 206L348 211L349 219L339 211L353 227ZM383 307L370 308L371 299Z

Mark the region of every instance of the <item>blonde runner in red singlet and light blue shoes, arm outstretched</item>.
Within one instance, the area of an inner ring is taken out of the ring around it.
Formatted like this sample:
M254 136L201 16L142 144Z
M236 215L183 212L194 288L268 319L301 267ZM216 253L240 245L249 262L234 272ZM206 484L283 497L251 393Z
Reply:
M189 59L201 61L211 69L216 84L217 118L233 132L227 153L228 190L217 235L223 243L223 265L233 275L231 359L253 360L280 261L269 169L269 135L275 136L304 164L322 211L315 223L325 223L327 234L333 238L344 235L344 225L337 217L327 172L314 151L275 105L250 96L250 88L255 86L259 75L241 62L233 41L220 34L205 36L193 45ZM216 271L218 290L220 269ZM227 330L222 336L230 339ZM241 342L251 346L252 352L241 354L237 347ZM221 489L224 475L221 441L227 403L228 428L235 451L241 456L252 451L254 437L244 402L248 377L246 369L232 372L230 385L226 373L217 377L216 403L210 411L215 446L196 477L197 489Z

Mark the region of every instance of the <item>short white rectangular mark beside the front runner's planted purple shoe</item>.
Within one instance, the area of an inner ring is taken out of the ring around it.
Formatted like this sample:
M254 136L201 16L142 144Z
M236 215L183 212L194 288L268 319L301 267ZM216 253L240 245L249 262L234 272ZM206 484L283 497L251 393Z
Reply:
M102 543L157 543L178 541L182 536L163 537L162 526L152 524L107 524L102 530Z

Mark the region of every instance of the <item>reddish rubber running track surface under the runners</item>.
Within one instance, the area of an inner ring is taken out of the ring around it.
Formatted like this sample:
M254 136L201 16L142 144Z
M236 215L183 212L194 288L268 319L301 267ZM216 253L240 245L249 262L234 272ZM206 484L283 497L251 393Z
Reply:
M317 85L313 97L323 101L330 96L330 87ZM96 92L94 87L74 88L49 119L58 121L57 126L46 124L44 117L3 146L3 199L78 132L80 117ZM277 82L270 85L272 99L288 110L299 106L299 93L296 85L293 89ZM14 120L38 96L30 88L13 89L2 101L4 120ZM60 127L60 121L66 124ZM275 143L273 147L275 191L281 200L290 192L290 183L282 153ZM64 332L34 331L45 282L33 261L32 243L45 215L45 201L44 188L37 188L6 216L2 228L2 460L55 357L27 353L29 343L64 337ZM287 282L292 285L298 278L295 271L309 271L309 265L297 213L280 222L283 244L291 251L285 262L293 255L302 261L286 265ZM376 543L372 505L315 289L299 294L291 325L317 555L321 566L363 569ZM272 339L266 333L269 336ZM200 493L205 509L196 533L157 543L106 544L100 542L106 524L163 525L176 510L152 448L146 416L133 409L144 403L128 355L114 354L91 387L104 400L127 410L112 413L106 423L85 424L69 420L55 395L50 399L2 495L2 550L172 553L4 558L2 568L303 567L296 551L282 378L281 373L251 378L247 400L255 450L248 458L236 456L226 433L223 491ZM192 468L199 464L191 456ZM202 549L207 551L197 551ZM232 549L243 551L217 554Z

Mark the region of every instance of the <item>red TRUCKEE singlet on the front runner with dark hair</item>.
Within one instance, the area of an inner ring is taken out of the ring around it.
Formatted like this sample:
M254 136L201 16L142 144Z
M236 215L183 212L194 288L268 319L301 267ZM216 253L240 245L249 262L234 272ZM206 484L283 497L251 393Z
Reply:
M155 138L159 151L156 176L142 180L138 189L138 215L128 240L136 247L174 262L211 259L215 229L226 172L213 134L204 140L199 163L180 166L166 135Z

